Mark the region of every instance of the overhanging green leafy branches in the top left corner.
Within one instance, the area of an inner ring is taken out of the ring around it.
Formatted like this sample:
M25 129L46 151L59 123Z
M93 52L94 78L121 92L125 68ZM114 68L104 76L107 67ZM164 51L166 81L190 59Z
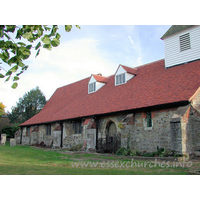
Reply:
M80 29L80 26L76 27ZM0 25L0 70L4 70L0 78L5 78L5 81L12 79L11 87L15 89L19 76L28 68L24 61L31 55L31 50L36 50L37 57L41 47L51 50L60 44L58 29L58 25ZM65 25L66 32L71 29L72 25ZM1 61L10 69L4 69Z

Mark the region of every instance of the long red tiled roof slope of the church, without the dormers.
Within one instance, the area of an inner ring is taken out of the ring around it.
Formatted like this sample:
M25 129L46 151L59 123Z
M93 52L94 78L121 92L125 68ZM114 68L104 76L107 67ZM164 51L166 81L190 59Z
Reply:
M21 126L188 101L200 86L200 61L165 69L164 60L135 68L137 76L115 86L114 75L88 94L89 78L58 88L44 108Z

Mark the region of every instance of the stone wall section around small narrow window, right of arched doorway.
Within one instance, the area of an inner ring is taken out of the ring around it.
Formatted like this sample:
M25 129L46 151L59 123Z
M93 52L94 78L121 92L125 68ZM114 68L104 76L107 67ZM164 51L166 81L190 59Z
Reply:
M176 109L152 111L152 127L146 127L145 112L136 113L135 127L131 131L131 148L146 152L153 152L159 148L170 150L170 121Z

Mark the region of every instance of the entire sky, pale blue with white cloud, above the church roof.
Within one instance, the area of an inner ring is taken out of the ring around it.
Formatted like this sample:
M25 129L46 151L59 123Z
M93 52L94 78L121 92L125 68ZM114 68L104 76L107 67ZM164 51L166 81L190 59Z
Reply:
M21 75L19 86L0 80L0 102L10 111L25 92L39 86L47 100L56 88L102 73L110 76L119 64L137 67L164 58L160 38L170 25L81 25L70 33L59 26L61 44L51 51L31 55L29 69ZM3 94L3 95L2 95Z

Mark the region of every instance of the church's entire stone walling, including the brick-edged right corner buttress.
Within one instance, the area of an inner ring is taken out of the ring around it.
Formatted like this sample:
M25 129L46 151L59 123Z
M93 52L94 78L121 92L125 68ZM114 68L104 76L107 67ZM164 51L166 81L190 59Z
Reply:
M195 105L198 105L197 101ZM120 137L120 147L141 152L165 148L180 154L200 151L200 112L192 105L151 110L151 117L152 127L147 127L146 111L99 117L98 147L107 143L108 125L112 122ZM63 148L77 144L83 144L84 149L96 148L96 122L92 118L84 120L80 134L74 134L73 121L63 122ZM44 142L47 146L52 143L54 148L60 147L62 131L59 123L51 124L51 135L46 135L46 125L30 127L30 135L27 130L26 127L22 129L22 144Z

